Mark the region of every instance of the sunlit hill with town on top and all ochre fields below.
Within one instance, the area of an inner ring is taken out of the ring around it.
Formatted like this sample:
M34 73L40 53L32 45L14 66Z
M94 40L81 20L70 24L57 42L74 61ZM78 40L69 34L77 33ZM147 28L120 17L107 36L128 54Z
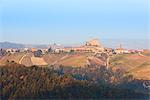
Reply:
M136 78L150 79L146 70L150 70L149 50L130 50L122 45L118 48L105 48L98 39L92 39L78 47L63 47L57 44L48 48L20 48L1 49L0 65L8 62L16 62L25 66L71 66L71 67L100 67L112 68L114 71L120 69L135 74ZM131 69L143 66L139 72Z

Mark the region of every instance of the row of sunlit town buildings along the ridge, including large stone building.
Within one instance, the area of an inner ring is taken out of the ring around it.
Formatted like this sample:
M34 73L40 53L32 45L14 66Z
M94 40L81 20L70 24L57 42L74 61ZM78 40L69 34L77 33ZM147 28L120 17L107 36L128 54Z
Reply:
M93 52L93 53L100 53L100 52L111 52L113 54L124 54L124 53L138 53L143 52L143 50L128 50L122 48L120 45L119 48L111 49L111 48L104 48L102 44L99 42L98 39L93 39L85 43L83 46L79 47L59 47L56 44L50 48L45 49L37 49L37 48L21 48L21 49L1 49L0 55L2 53L17 53L17 52L37 52L37 54L46 54L50 53L60 53L60 52Z

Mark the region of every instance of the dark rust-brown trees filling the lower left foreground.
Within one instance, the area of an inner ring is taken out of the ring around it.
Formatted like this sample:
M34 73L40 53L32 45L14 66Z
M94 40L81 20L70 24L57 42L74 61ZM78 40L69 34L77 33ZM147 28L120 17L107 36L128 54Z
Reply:
M97 83L92 79L95 74L85 75L85 79L80 79L78 75L85 71L82 69L81 71L74 70L79 74L71 74L61 73L62 67L61 70L53 70L48 67L25 67L13 63L1 66L0 70L1 99L143 99L147 97L146 94L140 92L103 84L103 79ZM103 73L98 71L96 74L99 73L100 76L96 77L102 78L104 75L103 78L107 79L108 72L104 69L103 71Z

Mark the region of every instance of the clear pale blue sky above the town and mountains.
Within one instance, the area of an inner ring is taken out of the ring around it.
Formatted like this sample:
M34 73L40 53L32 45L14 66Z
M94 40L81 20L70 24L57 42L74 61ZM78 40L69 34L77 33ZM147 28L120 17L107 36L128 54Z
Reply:
M150 39L149 0L0 0L0 41Z

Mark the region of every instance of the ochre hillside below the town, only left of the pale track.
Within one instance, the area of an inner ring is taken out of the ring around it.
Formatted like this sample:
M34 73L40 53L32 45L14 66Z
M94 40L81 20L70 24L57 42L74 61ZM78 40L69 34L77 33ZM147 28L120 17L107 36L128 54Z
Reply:
M103 61L96 57L90 57L90 53L60 53L60 54L44 54L41 57L34 57L32 53L15 53L7 54L0 59L0 65L4 65L8 61L14 61L26 66L32 65L63 65L72 67L84 67L89 64L103 65Z

